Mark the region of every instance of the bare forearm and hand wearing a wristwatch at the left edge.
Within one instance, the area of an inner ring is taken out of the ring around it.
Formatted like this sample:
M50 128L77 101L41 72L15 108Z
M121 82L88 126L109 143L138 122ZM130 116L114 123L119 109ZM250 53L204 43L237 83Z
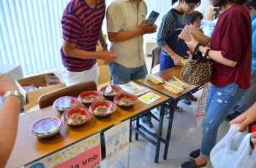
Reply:
M10 76L0 73L0 96L5 92L18 90ZM5 167L12 152L18 130L18 118L21 100L19 97L8 96L0 108L0 167Z

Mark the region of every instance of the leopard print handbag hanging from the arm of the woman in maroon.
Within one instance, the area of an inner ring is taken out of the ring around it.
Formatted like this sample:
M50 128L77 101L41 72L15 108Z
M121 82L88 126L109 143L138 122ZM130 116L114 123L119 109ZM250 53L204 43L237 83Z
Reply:
M207 57L207 55L208 52L205 56L197 55L193 52L181 69L181 79L192 85L206 84L211 81L213 65L211 58Z

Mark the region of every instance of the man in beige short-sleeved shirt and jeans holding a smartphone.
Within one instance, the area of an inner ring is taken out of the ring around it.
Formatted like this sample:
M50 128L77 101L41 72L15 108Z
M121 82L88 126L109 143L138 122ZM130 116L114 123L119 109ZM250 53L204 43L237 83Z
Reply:
M148 74L143 52L143 34L154 33L157 25L146 24L146 2L143 0L116 0L107 9L108 38L111 52L118 58L110 63L114 84L140 79ZM140 118L140 125L157 133L151 116Z

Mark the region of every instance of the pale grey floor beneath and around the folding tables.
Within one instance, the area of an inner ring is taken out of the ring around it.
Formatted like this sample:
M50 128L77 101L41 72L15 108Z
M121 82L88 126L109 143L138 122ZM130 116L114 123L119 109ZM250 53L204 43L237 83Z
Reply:
M146 57L148 70L151 66L151 57ZM154 71L158 71L159 67L154 68ZM201 90L195 93L197 99L200 99ZM132 143L130 143L129 151L129 167L132 168L178 168L184 161L188 161L187 155L200 148L200 141L202 137L201 124L203 117L195 117L197 111L197 102L192 102L192 105L185 105L179 102L184 111L176 111L173 120L173 129L170 136L170 145L168 148L167 159L163 160L164 144L161 144L159 153L159 162L154 163L154 153L156 147L151 143L148 143L143 137L139 137L139 140L135 140L134 132L132 137ZM157 114L156 114L157 116ZM152 119L155 127L157 127L157 121ZM218 141L225 136L229 124L224 121L219 127ZM164 120L162 137L166 136L167 131L167 119ZM124 156L123 159L118 161L122 167L128 167L128 156ZM104 162L102 164L104 167ZM118 164L114 164L111 168L118 168ZM207 168L211 168L211 163L207 165Z

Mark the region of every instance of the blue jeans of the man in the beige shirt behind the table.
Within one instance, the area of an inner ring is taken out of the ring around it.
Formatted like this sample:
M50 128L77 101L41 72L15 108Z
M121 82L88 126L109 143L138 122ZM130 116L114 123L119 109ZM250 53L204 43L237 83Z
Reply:
M142 65L138 68L126 68L118 63L109 64L111 77L113 84L122 84L131 80L138 80L145 77L148 74L146 65ZM146 115L141 117L142 121L148 123L151 121L151 116Z

